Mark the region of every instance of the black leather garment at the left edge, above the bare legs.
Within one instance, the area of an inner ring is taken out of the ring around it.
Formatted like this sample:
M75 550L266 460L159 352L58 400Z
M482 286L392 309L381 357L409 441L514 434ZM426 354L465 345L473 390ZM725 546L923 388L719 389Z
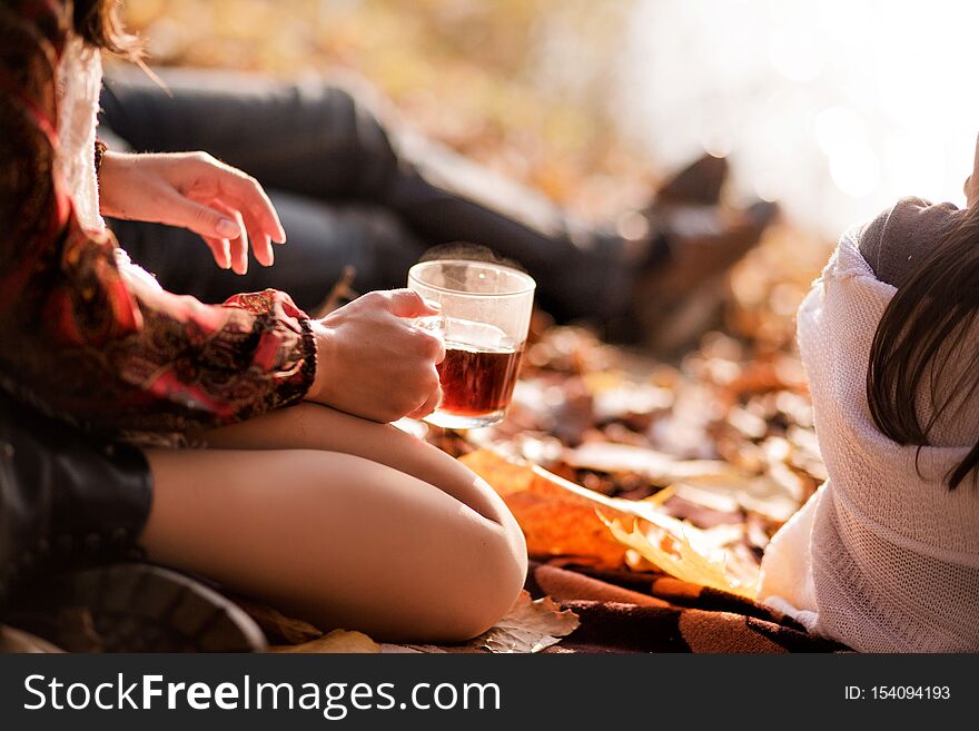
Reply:
M131 556L151 503L139 450L0 392L0 609L44 571Z

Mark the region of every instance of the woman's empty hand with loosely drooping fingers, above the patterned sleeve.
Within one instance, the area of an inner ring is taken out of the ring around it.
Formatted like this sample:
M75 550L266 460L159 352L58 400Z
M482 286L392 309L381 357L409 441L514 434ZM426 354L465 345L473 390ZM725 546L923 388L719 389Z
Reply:
M248 240L256 260L271 266L271 243L286 233L255 178L206 152L106 152L99 168L103 216L180 226L199 234L222 269L248 270Z

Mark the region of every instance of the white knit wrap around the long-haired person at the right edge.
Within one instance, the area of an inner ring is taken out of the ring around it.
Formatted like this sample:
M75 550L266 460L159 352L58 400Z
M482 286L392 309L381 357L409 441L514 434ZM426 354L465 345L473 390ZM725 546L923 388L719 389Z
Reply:
M867 365L896 289L860 255L860 233L842 237L799 309L799 347L830 478L765 551L760 597L856 650L975 652L979 485L967 478L949 491L943 478L979 436L979 403L963 399L939 425L938 446L920 454L877 429ZM930 399L917 396L927 417Z

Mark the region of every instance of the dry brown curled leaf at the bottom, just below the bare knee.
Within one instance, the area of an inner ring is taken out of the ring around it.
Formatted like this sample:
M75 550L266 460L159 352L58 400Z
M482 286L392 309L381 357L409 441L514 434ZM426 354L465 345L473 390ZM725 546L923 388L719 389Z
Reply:
M562 610L550 596L531 601L522 591L513 607L493 628L467 644L490 652L540 652L574 632L577 614Z

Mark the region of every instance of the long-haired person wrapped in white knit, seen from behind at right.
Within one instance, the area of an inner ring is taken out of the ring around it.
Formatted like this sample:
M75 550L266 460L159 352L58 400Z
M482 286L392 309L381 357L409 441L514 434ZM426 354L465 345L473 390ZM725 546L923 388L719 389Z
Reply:
M966 195L849 230L799 309L829 480L759 595L860 651L979 650L979 146Z

